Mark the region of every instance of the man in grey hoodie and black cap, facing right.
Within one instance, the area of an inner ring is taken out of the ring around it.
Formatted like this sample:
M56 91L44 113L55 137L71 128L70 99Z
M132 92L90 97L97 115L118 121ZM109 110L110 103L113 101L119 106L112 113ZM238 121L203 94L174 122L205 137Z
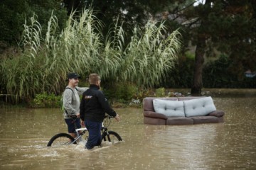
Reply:
M77 128L81 128L80 123L80 95L85 92L87 87L78 87L80 76L76 73L68 74L68 86L63 92L63 108L65 109L63 115L65 123L68 125L68 132L72 137L76 137L75 124ZM74 120L73 117L76 116Z

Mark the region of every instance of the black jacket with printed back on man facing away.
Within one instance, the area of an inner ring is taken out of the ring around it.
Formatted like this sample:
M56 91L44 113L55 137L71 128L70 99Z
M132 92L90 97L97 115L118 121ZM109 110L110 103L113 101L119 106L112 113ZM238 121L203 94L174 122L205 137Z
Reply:
M102 122L105 118L105 113L115 117L117 113L110 108L107 99L99 86L90 84L90 88L82 94L80 103L80 117L82 120L91 120Z

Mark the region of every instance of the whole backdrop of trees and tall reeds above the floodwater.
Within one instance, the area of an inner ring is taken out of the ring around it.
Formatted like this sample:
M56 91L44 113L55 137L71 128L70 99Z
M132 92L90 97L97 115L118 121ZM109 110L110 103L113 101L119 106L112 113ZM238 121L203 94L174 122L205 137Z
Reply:
M0 95L31 101L45 91L60 94L68 72L97 72L106 89L114 82L199 92L255 88L244 72L256 70L256 1L195 2L2 0ZM95 12L85 15L85 6Z

